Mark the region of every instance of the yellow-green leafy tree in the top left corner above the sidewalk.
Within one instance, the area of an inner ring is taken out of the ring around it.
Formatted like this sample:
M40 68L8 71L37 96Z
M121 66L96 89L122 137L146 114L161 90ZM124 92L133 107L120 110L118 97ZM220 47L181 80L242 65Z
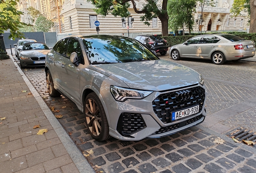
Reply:
M0 33L10 29L10 36L13 40L15 38L23 37L19 31L22 26L29 26L24 22L20 22L20 16L23 12L16 10L16 5L19 0L0 0Z

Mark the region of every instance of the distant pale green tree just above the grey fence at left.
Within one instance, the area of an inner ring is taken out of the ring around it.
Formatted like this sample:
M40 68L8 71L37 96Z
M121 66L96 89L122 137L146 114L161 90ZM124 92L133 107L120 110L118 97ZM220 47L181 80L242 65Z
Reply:
M44 16L39 16L35 21L35 28L37 32L48 32L54 26L54 22Z

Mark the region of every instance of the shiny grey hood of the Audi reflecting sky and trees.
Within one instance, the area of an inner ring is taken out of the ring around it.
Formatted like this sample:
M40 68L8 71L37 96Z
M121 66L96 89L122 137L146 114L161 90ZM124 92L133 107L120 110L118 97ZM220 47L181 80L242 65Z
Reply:
M167 60L101 64L97 68L133 89L164 91L200 82L200 74L196 71Z

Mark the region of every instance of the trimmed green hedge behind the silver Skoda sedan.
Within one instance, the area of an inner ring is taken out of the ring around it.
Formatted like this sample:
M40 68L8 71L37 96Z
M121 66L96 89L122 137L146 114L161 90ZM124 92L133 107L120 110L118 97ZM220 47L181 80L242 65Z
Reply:
M253 40L256 42L256 33L248 34L248 33L236 33L236 36L242 37L246 40ZM168 46L171 47L175 44L182 44L188 39L194 37L195 35L185 35L185 36L163 36L165 40L167 40Z

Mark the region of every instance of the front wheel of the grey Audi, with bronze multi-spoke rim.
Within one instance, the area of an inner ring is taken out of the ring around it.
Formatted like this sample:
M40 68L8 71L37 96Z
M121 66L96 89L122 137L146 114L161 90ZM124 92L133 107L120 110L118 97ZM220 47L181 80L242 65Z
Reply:
M85 98L85 123L91 136L97 141L109 139L109 126L107 117L99 97L90 93Z

